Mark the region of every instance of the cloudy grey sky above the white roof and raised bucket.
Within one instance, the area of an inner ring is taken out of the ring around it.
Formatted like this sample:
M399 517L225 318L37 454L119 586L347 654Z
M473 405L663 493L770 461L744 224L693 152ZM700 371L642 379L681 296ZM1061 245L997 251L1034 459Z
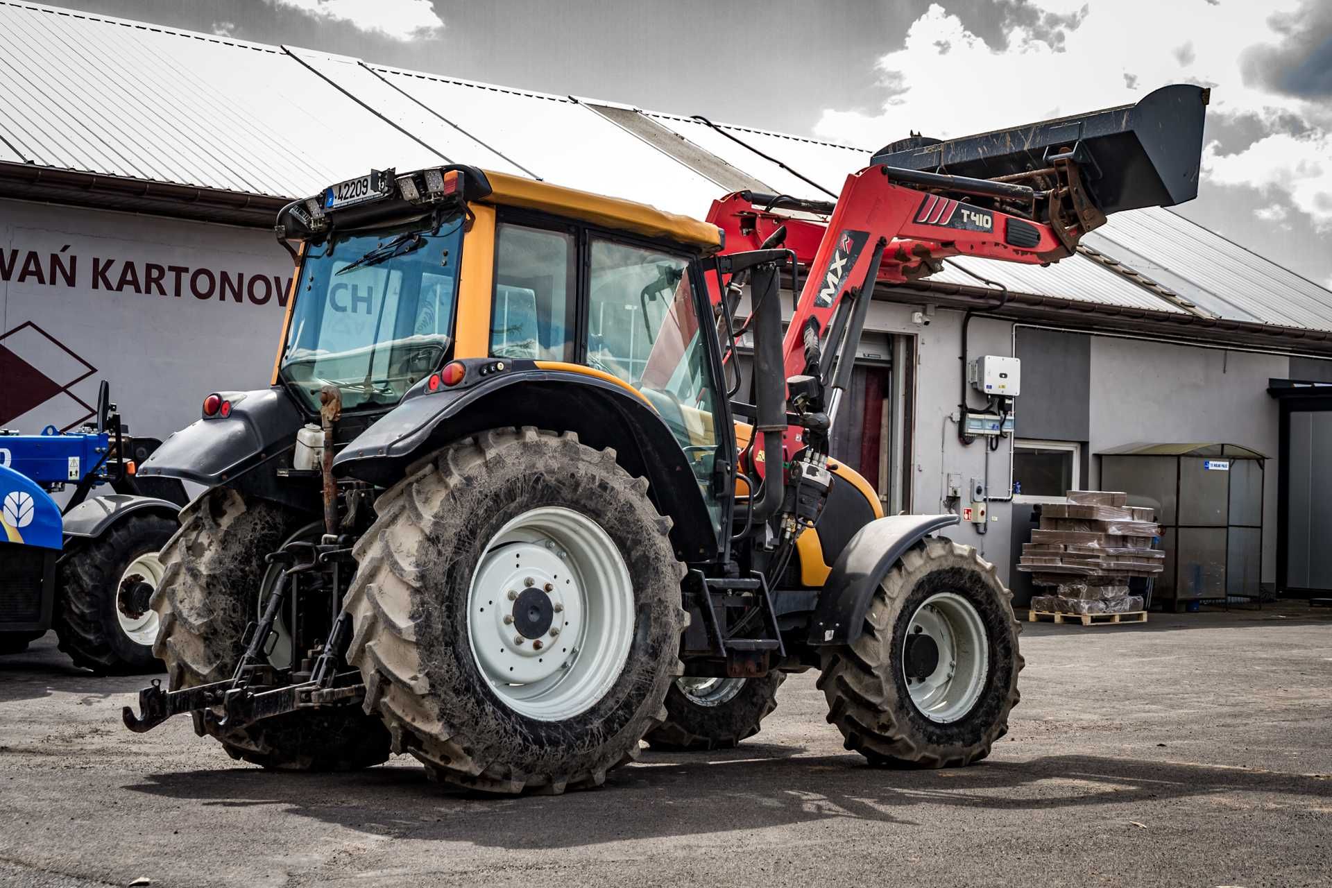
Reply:
M1185 216L1332 286L1332 0L51 0L874 149L1212 87Z

